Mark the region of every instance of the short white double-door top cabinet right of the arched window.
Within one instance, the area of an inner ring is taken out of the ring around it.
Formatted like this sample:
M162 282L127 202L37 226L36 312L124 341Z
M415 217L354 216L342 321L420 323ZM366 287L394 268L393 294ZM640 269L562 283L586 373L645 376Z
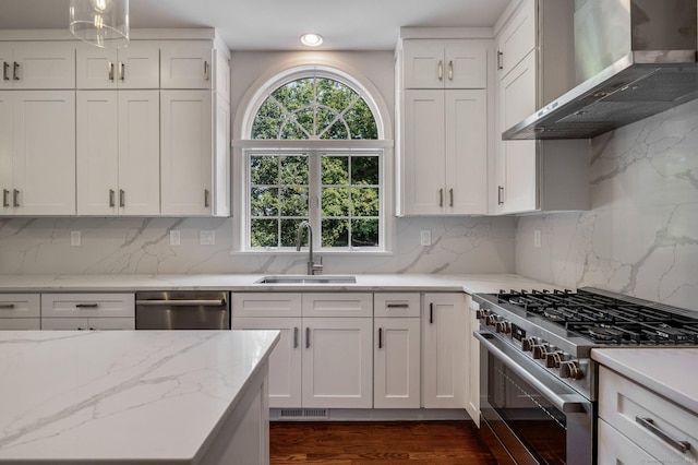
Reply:
M467 39L406 39L404 88L486 88L488 47Z

